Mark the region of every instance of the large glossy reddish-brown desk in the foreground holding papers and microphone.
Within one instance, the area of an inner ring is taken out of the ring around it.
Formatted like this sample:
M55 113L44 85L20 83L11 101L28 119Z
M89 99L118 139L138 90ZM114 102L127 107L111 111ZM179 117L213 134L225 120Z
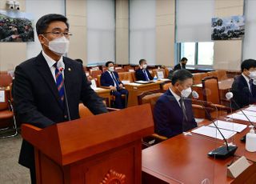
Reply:
M240 142L240 138L248 131L249 128L246 128L232 138L234 144L238 146L235 154L244 155L246 158L256 161L256 154L246 151L245 144ZM205 178L208 178L210 183L230 183L233 179L226 177L226 166L233 158L214 160L207 156L210 150L222 145L223 141L221 140L192 133L192 136L179 134L142 150L142 183L193 184L201 183Z

